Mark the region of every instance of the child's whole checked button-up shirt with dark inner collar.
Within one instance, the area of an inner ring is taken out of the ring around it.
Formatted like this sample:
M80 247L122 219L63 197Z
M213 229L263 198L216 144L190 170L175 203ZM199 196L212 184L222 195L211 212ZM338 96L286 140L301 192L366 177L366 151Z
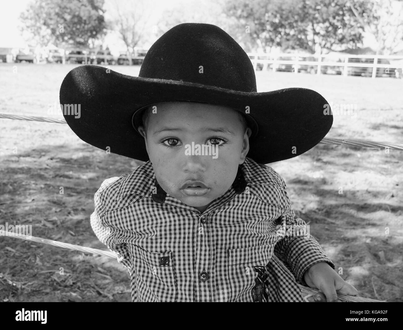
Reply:
M201 213L167 194L148 161L102 183L91 227L129 269L133 302L303 301L304 272L334 265L309 231L279 230L306 226L285 188L270 166L247 157Z

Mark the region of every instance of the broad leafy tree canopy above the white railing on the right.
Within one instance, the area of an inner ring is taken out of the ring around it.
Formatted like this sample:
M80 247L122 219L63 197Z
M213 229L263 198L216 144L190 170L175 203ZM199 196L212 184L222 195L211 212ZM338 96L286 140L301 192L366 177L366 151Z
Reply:
M372 10L368 1L355 4L360 13ZM347 0L228 0L226 11L250 26L251 36L264 48L315 53L322 48L355 48L363 39L364 26Z

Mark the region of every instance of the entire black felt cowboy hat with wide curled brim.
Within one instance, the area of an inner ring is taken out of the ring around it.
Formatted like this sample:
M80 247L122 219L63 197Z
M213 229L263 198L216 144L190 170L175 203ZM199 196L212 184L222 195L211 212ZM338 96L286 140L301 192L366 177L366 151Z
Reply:
M149 157L137 127L143 110L160 102L215 104L242 112L252 130L247 157L260 164L303 154L333 123L333 116L324 114L328 102L316 91L257 93L251 60L211 24L184 23L164 33L147 52L139 77L83 65L71 70L60 87L60 104L80 105L79 115L64 113L80 139L142 161Z

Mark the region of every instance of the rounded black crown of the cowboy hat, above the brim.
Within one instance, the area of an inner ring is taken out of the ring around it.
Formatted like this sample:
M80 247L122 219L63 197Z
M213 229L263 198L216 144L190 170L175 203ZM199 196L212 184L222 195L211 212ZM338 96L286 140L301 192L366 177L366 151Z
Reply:
M145 55L139 77L256 92L251 60L224 30L183 23L164 33Z

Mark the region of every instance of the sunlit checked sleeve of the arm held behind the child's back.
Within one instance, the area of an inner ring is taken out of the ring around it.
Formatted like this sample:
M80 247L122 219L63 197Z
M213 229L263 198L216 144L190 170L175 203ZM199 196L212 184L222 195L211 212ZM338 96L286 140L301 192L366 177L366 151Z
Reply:
M119 241L120 231L106 222L106 197L104 189L116 181L118 177L106 179L100 189L94 195L95 210L91 214L91 227L96 237L104 243L108 249L118 254L118 262L131 270L130 255L127 244Z

